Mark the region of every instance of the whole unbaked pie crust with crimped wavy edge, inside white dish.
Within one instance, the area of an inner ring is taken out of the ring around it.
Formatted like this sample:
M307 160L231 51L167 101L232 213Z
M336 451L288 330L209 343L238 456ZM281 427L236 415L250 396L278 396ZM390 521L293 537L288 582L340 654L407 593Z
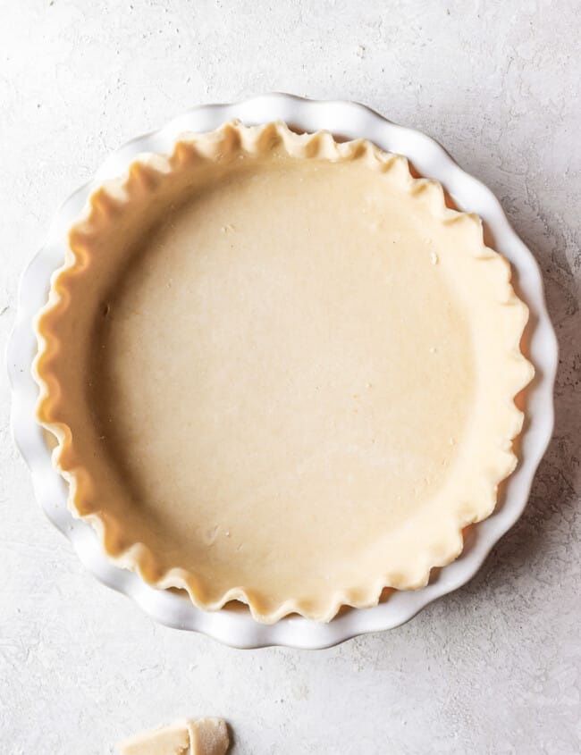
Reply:
M69 240L38 419L117 564L328 621L423 586L492 513L526 306L403 157L231 122L142 155Z

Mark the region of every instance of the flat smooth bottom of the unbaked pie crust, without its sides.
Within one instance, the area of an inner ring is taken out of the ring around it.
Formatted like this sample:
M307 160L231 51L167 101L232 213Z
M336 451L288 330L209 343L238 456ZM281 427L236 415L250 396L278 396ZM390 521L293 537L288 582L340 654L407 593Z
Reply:
M353 581L453 474L469 323L391 200L360 164L257 169L169 214L107 298L103 448L168 562L220 590Z

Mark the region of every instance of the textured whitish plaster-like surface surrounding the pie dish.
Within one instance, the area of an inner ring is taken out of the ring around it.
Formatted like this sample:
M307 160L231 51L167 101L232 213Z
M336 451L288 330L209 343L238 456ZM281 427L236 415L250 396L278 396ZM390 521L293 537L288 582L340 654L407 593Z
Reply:
M555 439L467 587L333 650L241 651L155 625L85 572L32 496L0 375L0 751L109 753L226 717L243 753L581 751L578 2L0 0L0 342L21 270L107 153L191 105L360 100L442 141L543 267Z

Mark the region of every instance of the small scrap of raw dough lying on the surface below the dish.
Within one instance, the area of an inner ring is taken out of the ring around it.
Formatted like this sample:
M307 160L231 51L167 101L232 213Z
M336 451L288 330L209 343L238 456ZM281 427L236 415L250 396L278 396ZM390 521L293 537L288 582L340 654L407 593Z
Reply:
M224 755L230 740L222 718L176 721L119 742L121 755Z

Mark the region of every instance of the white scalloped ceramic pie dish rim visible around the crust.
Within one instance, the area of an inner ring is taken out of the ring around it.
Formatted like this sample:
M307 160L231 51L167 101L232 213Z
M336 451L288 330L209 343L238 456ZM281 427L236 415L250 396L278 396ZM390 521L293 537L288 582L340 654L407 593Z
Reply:
M460 558L434 572L425 588L395 592L389 600L375 608L351 609L329 624L317 624L302 617L287 617L275 625L260 625L244 608L203 611L195 608L189 600L172 592L156 590L144 583L139 575L114 566L105 557L91 527L74 518L67 508L66 484L51 464L43 432L34 418L38 389L30 372L36 352L32 322L38 309L45 304L51 274L63 262L67 230L80 214L89 194L103 180L121 175L139 153L170 153L174 141L182 132L214 130L230 118L247 124L280 119L299 130L324 129L345 138L366 137L384 150L406 155L423 176L441 181L460 209L480 215L488 233L489 245L509 259L513 266L515 288L530 308L528 356L535 365L536 375L527 393L521 460L517 471L503 486L503 499L497 510L472 529ZM197 107L160 130L132 139L108 157L95 179L69 197L57 212L45 245L22 275L7 362L13 389L13 434L29 465L37 499L49 519L72 541L80 560L97 579L130 596L150 617L164 625L206 633L240 648L287 645L316 649L343 642L358 634L401 625L432 600L456 590L476 574L493 545L522 514L535 470L551 439L552 390L558 353L535 257L510 227L492 192L462 171L434 139L389 122L356 103L320 102L271 94L233 105Z

